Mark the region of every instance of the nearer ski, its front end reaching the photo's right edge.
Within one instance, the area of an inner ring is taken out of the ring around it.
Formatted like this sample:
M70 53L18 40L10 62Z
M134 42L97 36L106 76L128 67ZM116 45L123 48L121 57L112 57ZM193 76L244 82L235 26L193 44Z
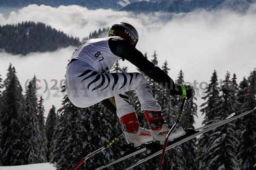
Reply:
M224 121L220 121L218 124L215 124L215 125L213 125L213 126L210 126L210 127L204 128L204 129L201 129L201 131L199 131L199 132L197 132L197 133L195 133L195 134L193 134L193 135L189 135L188 137L185 137L185 138L184 138L183 136L180 136L181 139L180 139L180 138L177 138L177 139L175 139L174 141L172 141L171 144L169 144L169 146L166 147L166 150L170 150L170 149L172 149L173 147L176 147L176 146L178 146L179 144L182 144L182 143L184 143L184 142L186 142L186 141L189 141L190 139L195 138L195 137L198 136L198 135L201 135L201 134L203 134L203 133L206 133L206 132L208 132L208 131L210 131L210 130L216 128L216 127L219 127L219 126L221 126L221 125L223 125L223 124L227 124L227 123L230 122L230 121L233 121L233 120L236 120L237 118L240 118L240 117L242 117L242 116L245 116L245 115L249 114L250 112L253 112L254 110L256 110L256 107L255 107L254 109L252 109L252 110L249 110L249 111L247 111L247 112L241 113L240 115L237 115L237 116L235 116L235 117L232 117L232 118L229 118L229 119L225 119ZM185 136L185 135L184 135L184 136ZM130 167L126 168L125 170L129 170L129 169L131 169L131 168L133 168L133 167L136 167L137 165L139 165L139 164L141 164L141 163L143 163L143 162L145 162L145 161L147 161L147 160L149 160L149 159L151 159L151 158L153 158L153 157L155 157L155 156L157 156L157 155L159 155L159 154L161 154L161 153L162 153L162 150L159 150L159 151L153 153L152 155L150 155L150 156L148 156L148 157L146 157L146 158L144 158L144 159L138 161L137 163L131 165Z

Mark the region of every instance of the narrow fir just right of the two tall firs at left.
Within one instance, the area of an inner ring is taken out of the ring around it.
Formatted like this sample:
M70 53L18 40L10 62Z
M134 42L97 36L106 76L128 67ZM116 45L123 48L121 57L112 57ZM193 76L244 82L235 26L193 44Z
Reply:
M47 148L47 137L46 137L46 129L45 129L45 121L44 121L44 105L43 105L44 99L42 96L40 97L40 100L38 101L38 125L39 125L39 131L41 135L41 141L40 141L40 157L41 158L47 158L48 154L48 148ZM46 162L47 159L44 160Z

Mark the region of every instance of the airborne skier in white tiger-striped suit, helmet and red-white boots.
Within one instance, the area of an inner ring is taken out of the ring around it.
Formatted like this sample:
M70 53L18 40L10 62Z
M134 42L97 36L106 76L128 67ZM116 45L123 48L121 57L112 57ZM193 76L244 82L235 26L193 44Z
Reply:
M118 59L128 60L148 77L166 86L172 95L185 93L188 99L192 96L190 86L175 84L163 70L154 66L135 48L138 40L139 35L133 26L116 23L111 27L108 37L85 41L67 66L65 86L70 101L76 107L90 107L114 97L116 114L122 122L126 140L131 147L148 141L160 141L163 144L165 134L171 127L166 124L161 107L154 99L143 74L109 73ZM130 90L137 93L149 130L140 127L135 109L128 98ZM183 128L177 127L169 140L183 134Z

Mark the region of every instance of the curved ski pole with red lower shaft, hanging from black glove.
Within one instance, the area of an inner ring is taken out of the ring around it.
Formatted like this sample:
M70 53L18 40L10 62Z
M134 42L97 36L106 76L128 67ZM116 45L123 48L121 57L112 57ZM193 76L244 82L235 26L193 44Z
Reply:
M165 151L166 151L166 146L167 146L167 143L168 143L168 138L172 134L174 129L177 127L179 122L180 122L180 119L181 119L181 116L182 116L182 112L183 112L183 108L184 108L184 105L185 105L185 101L186 101L186 96L183 96L183 101L182 101L182 104L181 104L181 107L180 107L179 117L178 117L177 121L172 126L172 129L169 131L169 133L167 134L167 136L165 138L165 141L164 141L164 144L163 144L163 151L162 151L162 155L161 155L161 159L160 159L160 164L159 164L159 170L161 170L161 168L162 168L163 157L164 157L164 154L165 154Z

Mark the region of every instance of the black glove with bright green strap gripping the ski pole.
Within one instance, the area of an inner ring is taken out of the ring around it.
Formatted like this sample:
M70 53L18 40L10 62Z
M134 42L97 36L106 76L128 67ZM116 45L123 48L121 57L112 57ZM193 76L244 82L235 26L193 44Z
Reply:
M182 90L184 89L184 91ZM187 100L189 100L193 95L193 89L189 85L177 85L175 84L175 89L170 90L171 95L182 95Z

